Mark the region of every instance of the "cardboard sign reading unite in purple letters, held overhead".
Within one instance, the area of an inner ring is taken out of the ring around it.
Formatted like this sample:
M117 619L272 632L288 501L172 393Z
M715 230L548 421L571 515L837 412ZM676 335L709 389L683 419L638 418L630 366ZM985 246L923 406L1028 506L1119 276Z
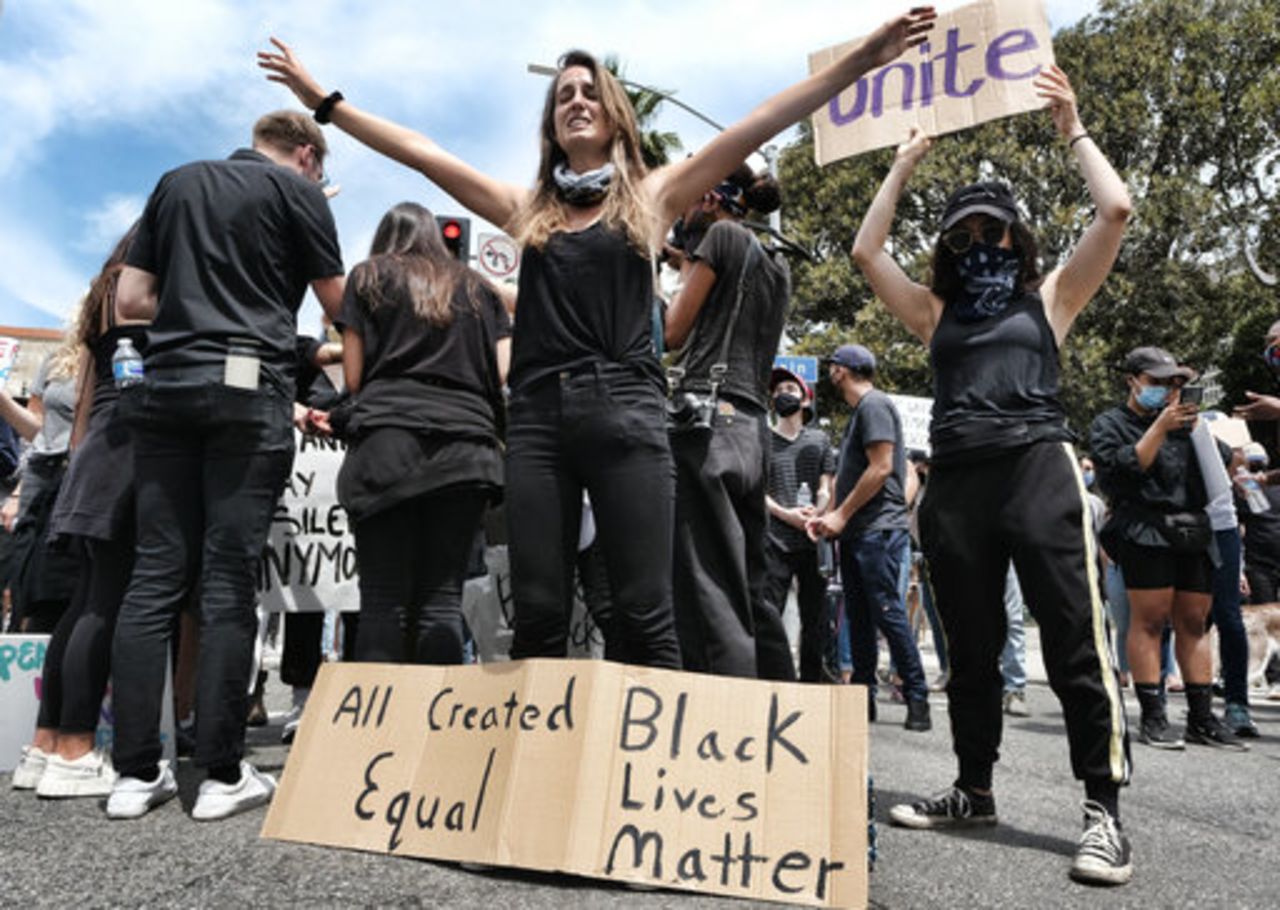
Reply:
M849 41L809 55L815 73L856 47ZM1039 0L984 0L938 15L929 40L867 73L813 115L819 165L928 136L1037 110L1033 77L1053 63Z

